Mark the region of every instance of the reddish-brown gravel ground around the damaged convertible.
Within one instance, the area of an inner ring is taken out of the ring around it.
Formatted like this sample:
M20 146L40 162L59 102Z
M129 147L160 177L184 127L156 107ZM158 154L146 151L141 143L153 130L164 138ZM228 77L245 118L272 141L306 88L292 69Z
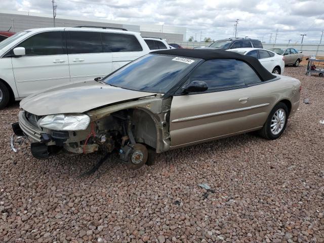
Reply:
M79 178L99 155L14 153L18 103L0 111L0 242L324 242L324 78L304 70L286 67L310 104L280 139L191 146L138 171L112 161Z

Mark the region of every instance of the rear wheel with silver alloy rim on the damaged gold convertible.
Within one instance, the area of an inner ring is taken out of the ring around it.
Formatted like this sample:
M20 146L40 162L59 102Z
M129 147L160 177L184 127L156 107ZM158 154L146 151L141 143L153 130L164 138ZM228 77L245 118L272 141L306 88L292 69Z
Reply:
M281 136L287 126L289 110L287 105L279 102L271 110L259 135L265 139L274 140Z

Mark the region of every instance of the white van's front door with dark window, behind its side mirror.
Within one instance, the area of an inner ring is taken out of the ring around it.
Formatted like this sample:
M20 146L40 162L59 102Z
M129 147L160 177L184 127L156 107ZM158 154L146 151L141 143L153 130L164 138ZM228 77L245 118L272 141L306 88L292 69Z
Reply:
M63 31L34 34L16 47L24 47L26 53L25 56L12 57L20 98L70 82Z

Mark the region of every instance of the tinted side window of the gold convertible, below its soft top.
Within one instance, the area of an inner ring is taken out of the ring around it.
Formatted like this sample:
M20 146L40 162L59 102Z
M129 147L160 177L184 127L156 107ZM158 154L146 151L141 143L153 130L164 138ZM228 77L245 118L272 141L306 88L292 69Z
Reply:
M206 61L191 73L189 80L206 82L209 91L261 82L259 76L247 63L234 59Z

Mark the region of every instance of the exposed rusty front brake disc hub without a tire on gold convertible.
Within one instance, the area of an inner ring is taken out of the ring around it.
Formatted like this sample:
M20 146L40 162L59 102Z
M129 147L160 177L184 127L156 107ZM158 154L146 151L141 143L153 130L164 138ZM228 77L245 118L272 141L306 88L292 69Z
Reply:
M136 143L129 155L126 166L132 170L137 170L145 165L148 158L148 151L145 145Z

